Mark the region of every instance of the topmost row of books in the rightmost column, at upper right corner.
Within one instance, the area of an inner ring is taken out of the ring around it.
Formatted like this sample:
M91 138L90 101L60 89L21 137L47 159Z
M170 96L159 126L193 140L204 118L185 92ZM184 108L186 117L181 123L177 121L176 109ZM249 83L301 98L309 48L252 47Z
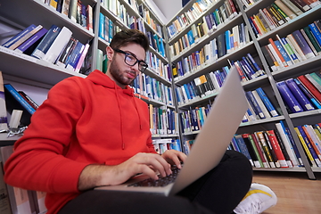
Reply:
M273 4L259 9L257 14L249 17L251 28L256 36L260 37L319 4L321 2L318 0L310 0L307 3L303 0L276 0Z

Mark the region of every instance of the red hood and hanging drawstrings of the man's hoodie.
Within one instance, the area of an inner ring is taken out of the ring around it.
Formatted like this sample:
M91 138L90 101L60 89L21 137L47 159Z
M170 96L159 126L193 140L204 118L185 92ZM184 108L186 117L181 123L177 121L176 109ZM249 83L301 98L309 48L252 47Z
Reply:
M133 88L131 88L130 86L126 86L125 89L121 88L120 86L118 86L115 81L113 81L110 77L108 77L106 74L104 74L102 71L100 70L94 70L93 72L91 72L87 78L88 80L92 81L93 83L95 83L96 85L101 85L107 88L110 88L112 90L114 90L116 98L117 98L117 104L119 107L119 112L120 112L120 131L121 131L121 136L123 136L125 133L123 132L123 126L122 124L125 123L126 121L124 121L123 119L123 115L126 113L126 110L121 109L120 108L120 104L119 104L119 93L123 93L125 95L131 96L132 97L132 102L134 102L135 108L136 108L136 112L138 114L138 119L139 119L139 124L138 126L140 127L140 129L142 129L142 117L137 109L137 104L136 104L136 98L134 96L134 90ZM122 149L125 149L125 142L122 138L121 140L121 144L122 144Z

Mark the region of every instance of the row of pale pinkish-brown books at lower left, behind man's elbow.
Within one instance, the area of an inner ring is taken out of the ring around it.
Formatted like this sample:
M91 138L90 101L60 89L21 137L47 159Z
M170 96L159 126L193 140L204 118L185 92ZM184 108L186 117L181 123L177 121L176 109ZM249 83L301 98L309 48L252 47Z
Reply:
M0 147L0 204L2 214L45 214L45 193L24 190L4 183L4 162L13 152L13 146Z

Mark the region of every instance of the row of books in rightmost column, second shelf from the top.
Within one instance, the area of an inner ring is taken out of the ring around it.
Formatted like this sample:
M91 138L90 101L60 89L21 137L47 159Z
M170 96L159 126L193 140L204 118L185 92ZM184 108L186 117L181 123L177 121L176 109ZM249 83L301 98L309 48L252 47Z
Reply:
M281 70L292 64L306 61L321 53L321 21L317 20L303 29L276 40L268 38L268 45L261 47L271 70Z

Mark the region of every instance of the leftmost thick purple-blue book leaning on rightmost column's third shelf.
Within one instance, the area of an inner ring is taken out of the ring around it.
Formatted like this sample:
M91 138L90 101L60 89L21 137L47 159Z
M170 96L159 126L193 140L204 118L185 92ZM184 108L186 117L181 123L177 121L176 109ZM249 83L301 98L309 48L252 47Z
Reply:
M281 96L283 97L284 102L286 103L290 111L292 111L292 113L303 111L302 107L300 106L300 103L294 97L290 88L285 84L284 81L277 82L276 86Z

